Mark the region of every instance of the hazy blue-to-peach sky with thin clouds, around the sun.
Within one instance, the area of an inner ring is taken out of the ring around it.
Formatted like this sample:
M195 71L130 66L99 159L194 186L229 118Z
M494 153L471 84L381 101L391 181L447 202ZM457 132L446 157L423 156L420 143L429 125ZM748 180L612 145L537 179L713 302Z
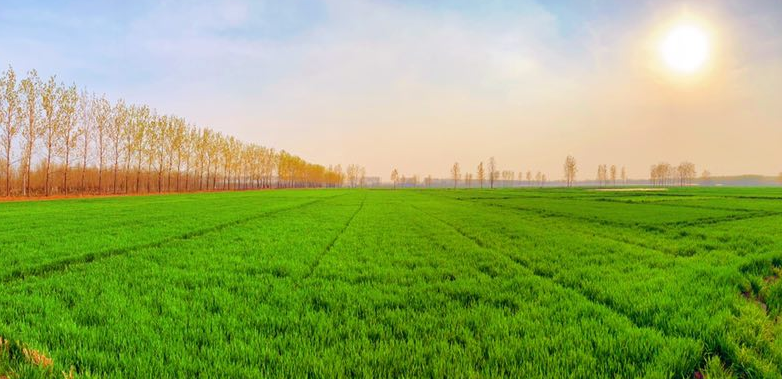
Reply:
M691 76L657 49L683 14L711 41ZM386 180L782 171L779 0L3 0L0 64Z

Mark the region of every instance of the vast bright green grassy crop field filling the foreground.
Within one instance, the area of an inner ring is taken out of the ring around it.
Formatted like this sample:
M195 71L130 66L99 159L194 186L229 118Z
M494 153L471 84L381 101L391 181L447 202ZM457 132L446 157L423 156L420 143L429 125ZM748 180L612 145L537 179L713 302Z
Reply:
M0 336L52 377L782 377L780 189L230 192L0 220ZM46 374L2 355L0 377Z

